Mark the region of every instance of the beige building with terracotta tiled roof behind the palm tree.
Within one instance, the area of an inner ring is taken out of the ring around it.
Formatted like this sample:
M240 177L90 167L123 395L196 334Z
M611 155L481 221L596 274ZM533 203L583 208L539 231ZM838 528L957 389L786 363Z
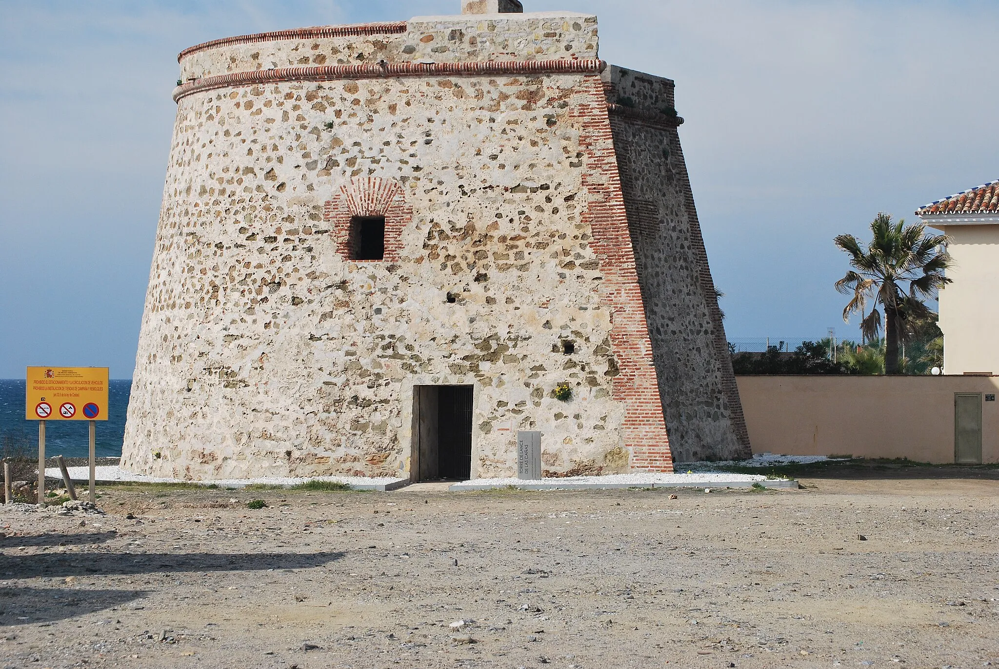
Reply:
M940 291L944 374L999 374L999 181L930 203L916 215L953 240L947 275L954 282Z

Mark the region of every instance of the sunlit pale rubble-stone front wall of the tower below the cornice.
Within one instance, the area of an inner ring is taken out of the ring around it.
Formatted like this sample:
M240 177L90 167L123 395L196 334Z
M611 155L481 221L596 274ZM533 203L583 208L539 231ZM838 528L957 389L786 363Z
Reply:
M180 97L123 466L405 476L413 387L470 384L473 475L514 471L516 429L544 432L547 475L627 471L626 286L593 248L582 105L606 118L595 75ZM351 261L338 207L386 183L412 220L395 256Z

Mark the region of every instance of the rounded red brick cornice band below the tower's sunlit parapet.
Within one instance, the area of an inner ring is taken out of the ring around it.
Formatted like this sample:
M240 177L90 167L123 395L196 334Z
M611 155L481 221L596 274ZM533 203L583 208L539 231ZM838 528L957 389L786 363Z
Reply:
M456 77L538 74L599 74L607 64L595 58L554 60L493 60L473 63L381 63L378 65L317 65L253 70L198 79L174 89L174 102L193 93L282 81L337 81L393 77Z

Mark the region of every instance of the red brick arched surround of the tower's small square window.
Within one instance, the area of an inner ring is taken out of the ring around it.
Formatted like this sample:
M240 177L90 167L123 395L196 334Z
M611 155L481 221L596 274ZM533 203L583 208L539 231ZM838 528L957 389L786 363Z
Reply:
M352 221L359 218L385 217L385 258L383 261L358 261L357 235ZM326 203L325 218L332 224L337 252L353 262L396 262L402 247L402 234L413 220L413 207L406 201L403 186L395 179L367 177L352 179L341 186Z

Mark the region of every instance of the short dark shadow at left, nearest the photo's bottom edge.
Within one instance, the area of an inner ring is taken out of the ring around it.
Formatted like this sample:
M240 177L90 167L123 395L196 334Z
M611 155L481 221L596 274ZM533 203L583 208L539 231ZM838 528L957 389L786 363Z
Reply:
M142 590L3 587L0 625L51 623L121 606L145 595Z

